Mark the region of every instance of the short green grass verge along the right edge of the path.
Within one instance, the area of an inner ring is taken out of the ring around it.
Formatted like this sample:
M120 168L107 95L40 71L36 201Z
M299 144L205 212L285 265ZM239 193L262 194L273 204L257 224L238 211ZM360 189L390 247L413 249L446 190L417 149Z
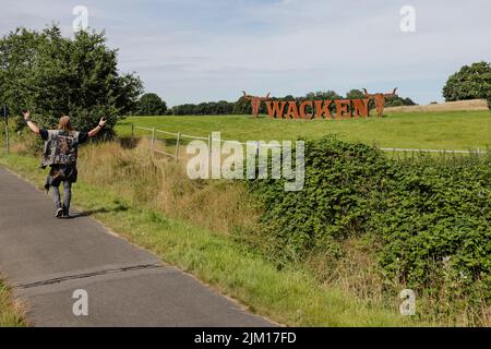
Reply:
M45 173L37 169L37 159L11 155L0 157L0 165L43 183ZM370 306L337 289L322 287L302 270L277 270L262 256L223 234L132 206L83 179L75 186L74 204L95 212L95 218L130 241L276 322L300 326L416 324L398 315L396 309Z

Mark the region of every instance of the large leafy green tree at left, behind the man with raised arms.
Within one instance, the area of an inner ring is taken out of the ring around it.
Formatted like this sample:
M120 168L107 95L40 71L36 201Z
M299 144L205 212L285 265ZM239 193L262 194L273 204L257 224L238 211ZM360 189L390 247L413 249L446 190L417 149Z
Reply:
M81 131L105 117L110 132L134 109L142 83L119 74L117 50L105 41L104 32L62 37L57 25L11 32L0 39L0 99L14 115L31 109L45 128L55 128L64 112Z

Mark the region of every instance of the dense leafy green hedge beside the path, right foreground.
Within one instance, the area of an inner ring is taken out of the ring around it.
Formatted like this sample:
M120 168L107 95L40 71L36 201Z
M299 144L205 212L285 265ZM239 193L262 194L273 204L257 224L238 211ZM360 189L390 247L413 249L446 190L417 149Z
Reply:
M306 141L302 191L284 191L283 180L249 184L264 205L259 234L277 261L337 257L343 240L362 237L387 279L491 299L490 156L390 159L324 137Z

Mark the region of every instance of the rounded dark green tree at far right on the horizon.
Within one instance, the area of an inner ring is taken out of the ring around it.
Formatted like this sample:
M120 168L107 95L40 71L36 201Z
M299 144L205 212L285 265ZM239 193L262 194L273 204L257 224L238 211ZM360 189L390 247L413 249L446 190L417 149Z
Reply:
M491 99L491 65L481 61L464 65L452 74L443 87L446 101L463 99ZM491 107L491 105L490 105Z

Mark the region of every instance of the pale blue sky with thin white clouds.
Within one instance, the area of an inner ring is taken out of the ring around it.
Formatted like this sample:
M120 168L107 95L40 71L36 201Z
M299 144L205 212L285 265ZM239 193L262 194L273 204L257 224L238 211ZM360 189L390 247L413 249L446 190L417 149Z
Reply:
M51 23L73 36L76 5L169 106L363 87L428 104L462 65L491 61L490 0L1 0L0 36Z

